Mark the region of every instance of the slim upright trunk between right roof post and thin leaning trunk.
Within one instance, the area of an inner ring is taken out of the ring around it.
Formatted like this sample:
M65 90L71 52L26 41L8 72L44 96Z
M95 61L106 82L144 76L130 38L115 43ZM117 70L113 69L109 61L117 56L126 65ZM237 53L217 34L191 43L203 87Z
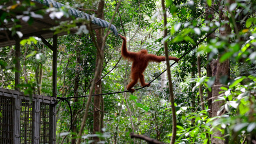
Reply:
M76 75L75 75L75 84L74 84L74 97L78 96L78 87L79 87L79 65L80 65L80 59L81 59L81 51L79 48L76 49ZM77 114L77 110L78 110L78 105L76 104L76 102L78 101L78 98L74 98L74 105L73 105L73 116L75 116ZM74 117L73 117L74 118ZM74 121L74 119L72 119L72 121ZM72 125L72 137L73 139L71 140L72 144L76 143L76 139L74 137L76 137L76 133L77 133L77 120L75 120L73 122Z

